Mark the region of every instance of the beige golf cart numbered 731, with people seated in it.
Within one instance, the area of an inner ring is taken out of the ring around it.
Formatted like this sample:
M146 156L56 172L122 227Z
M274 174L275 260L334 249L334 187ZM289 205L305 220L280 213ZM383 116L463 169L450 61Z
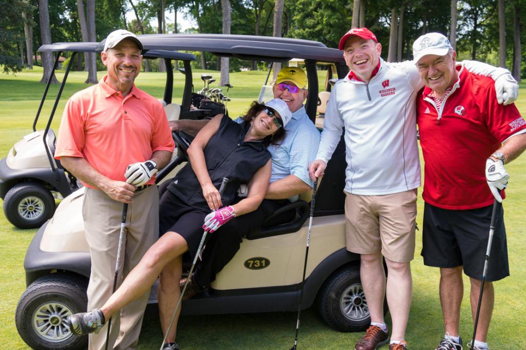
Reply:
M142 35L139 39L145 50L209 51L218 56L268 62L302 58L309 82L306 110L312 122L318 98L317 62L335 63L339 77L347 73L340 51L310 40L211 34ZM186 77L191 78L186 69ZM191 81L187 79L185 91L190 89ZM202 116L197 110L181 113L180 118ZM188 140L183 134L175 134L175 138L178 154L159 172L158 182L185 160ZM364 330L370 317L360 283L359 256L346 249L342 191L345 168L345 145L341 141L318 187L301 308L316 303L328 325L350 332ZM60 203L53 218L38 230L26 253L28 287L17 306L16 325L23 340L33 348L79 349L87 341L86 337L72 336L63 324L65 316L86 310L90 255L83 232L82 196L80 188ZM250 232L208 291L185 301L182 313L296 311L309 208L307 200L290 203L270 220L275 221L289 211L294 219L280 225L264 224ZM150 303L156 302L155 284Z

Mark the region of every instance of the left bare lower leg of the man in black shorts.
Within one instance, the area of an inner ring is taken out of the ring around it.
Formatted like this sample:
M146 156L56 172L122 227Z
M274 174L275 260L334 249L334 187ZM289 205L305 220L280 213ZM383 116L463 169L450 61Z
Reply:
M446 333L459 336L460 304L464 296L462 266L440 268L440 305Z

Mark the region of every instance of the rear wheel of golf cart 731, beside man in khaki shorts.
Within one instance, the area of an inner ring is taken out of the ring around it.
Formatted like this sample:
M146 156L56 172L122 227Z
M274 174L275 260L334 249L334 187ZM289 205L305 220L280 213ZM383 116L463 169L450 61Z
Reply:
M351 306L353 302L357 305ZM358 264L333 273L323 283L317 303L323 321L337 331L365 331L371 323Z

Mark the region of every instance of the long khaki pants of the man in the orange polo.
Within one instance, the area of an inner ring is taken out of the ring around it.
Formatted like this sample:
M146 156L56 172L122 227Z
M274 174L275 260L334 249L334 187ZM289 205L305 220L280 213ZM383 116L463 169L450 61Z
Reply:
M101 307L112 295L115 262L119 242L123 204L109 198L99 189L86 188L83 203L86 240L92 259L88 285L88 311ZM159 235L159 194L150 186L133 197L128 205L125 240L120 253L117 288ZM143 323L149 290L112 317L108 348L135 349ZM98 334L89 335L89 349L101 350L106 345L106 325Z

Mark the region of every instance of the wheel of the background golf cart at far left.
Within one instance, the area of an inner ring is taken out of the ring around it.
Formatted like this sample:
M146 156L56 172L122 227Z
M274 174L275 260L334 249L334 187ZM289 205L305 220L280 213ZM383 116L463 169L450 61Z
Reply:
M21 205L26 206L24 214L19 213ZM36 182L16 184L8 190L4 198L4 214L7 220L18 228L41 227L53 213L55 198L46 187Z

